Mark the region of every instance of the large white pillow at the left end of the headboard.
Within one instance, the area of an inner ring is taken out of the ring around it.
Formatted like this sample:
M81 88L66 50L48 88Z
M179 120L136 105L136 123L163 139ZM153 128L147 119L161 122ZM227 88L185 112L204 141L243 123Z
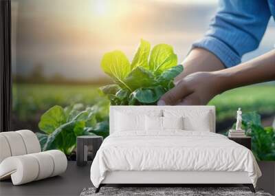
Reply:
M115 113L115 131L142 131L145 130L145 115Z

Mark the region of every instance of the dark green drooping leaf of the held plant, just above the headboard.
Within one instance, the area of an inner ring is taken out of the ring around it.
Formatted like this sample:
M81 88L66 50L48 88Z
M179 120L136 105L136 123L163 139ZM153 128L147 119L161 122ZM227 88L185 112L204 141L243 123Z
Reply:
M142 103L154 103L165 93L163 87L140 88L133 91L133 97Z

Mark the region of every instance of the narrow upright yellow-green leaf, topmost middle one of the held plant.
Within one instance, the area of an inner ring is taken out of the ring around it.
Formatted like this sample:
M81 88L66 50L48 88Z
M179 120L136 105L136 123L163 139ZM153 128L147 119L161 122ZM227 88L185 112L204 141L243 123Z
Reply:
M148 41L141 39L140 46L137 48L137 52L131 63L131 69L135 67L148 67L148 56L150 54L151 45Z

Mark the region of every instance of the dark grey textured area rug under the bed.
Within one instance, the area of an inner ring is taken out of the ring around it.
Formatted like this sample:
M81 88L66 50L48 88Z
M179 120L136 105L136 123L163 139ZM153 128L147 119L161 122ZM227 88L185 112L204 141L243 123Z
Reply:
M264 193L261 189L256 189L252 193L247 187L102 187L99 193L94 193L96 188L84 188L80 196L100 196L100 195L146 195L146 196L169 196L169 195L223 195L223 196L272 196Z

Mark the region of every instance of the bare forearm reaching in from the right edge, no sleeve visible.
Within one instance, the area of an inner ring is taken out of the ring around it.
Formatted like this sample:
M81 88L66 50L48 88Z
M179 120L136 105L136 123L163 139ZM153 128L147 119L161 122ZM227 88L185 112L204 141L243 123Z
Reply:
M219 93L236 87L275 80L275 50L213 74L217 76Z

